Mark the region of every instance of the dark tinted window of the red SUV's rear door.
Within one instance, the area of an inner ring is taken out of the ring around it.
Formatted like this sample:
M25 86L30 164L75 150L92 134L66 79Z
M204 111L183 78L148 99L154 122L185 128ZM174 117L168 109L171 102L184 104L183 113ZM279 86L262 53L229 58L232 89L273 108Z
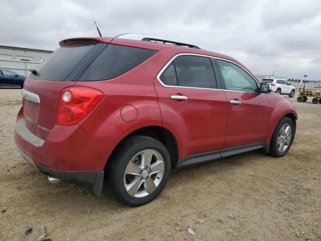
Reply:
M217 88L210 58L192 55L177 57L160 76L167 85Z

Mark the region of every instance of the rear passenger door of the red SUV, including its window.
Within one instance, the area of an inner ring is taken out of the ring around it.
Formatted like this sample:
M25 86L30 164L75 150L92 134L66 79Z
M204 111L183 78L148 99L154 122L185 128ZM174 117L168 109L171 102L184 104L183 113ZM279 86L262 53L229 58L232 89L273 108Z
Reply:
M179 143L179 158L222 149L227 100L217 89L211 59L180 54L154 79L163 127Z

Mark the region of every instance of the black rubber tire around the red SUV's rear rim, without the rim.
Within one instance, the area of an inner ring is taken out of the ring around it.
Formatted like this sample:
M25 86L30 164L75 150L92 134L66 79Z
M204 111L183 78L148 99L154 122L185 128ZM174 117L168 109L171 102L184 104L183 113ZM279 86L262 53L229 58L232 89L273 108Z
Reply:
M134 197L125 189L125 170L130 160L137 153L147 149L154 150L162 156L164 160L164 174L153 192L143 197ZM109 174L107 179L109 179L108 181L116 198L128 206L141 206L152 201L164 189L171 172L171 157L167 148L161 142L146 136L133 136L119 144L108 160L107 169Z

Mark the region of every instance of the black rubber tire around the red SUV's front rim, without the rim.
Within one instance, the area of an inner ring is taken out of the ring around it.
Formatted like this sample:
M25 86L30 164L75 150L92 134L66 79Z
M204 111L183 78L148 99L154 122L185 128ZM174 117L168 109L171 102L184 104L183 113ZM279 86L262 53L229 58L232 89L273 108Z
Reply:
M277 147L278 146L277 139L279 137L279 133L280 133L281 128L286 124L288 124L291 128L291 140L290 140L290 143L289 143L287 149L285 151L281 152L278 150L278 147ZM277 124L277 126L274 130L274 133L272 135L271 142L270 142L269 154L273 157L283 157L289 151L289 149L293 143L293 140L294 140L294 135L295 135L295 130L294 130L294 125L293 125L292 119L290 119L289 117L283 117L281 119L281 121Z

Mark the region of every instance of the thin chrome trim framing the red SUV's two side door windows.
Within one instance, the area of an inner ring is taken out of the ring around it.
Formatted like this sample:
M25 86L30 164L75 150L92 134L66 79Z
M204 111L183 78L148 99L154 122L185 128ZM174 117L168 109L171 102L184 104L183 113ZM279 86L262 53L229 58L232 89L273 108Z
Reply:
M183 55L191 55L191 56L200 56L200 57L207 57L207 58L213 58L213 59L220 59L223 61L227 61L227 62L231 62L232 64L235 64L237 66L239 66L241 69L243 69L246 73L248 73L254 81L256 81L258 84L259 82L253 77L253 75L251 75L246 69L244 69L241 65L228 60L228 59L224 59L224 58L219 58L219 57L214 57L211 55L205 55L205 54L194 54L194 53L180 53L180 54L176 54L174 55L167 63L166 65L158 72L158 74L156 75L156 79L158 80L158 82L163 85L164 87L172 87L172 88L185 88L185 89L208 89L208 90L220 90L220 91L231 91L231 92L241 92L241 93L257 93L257 92L249 92L249 91L239 91L239 90L229 90L229 89L217 89L217 88L201 88L201 87L188 87L188 86L177 86L177 85L167 85L165 83L163 83L163 81L161 80L161 75L163 74L163 72L166 70L166 68L173 62L174 59L176 59L179 56L183 56ZM265 93L258 93L258 94L265 94Z

